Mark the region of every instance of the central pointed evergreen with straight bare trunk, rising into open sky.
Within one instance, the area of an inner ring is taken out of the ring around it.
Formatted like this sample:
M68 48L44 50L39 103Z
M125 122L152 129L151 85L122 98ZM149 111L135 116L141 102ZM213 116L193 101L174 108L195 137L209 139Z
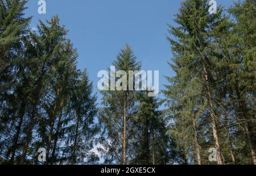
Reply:
M113 61L113 65L116 70L123 70L126 73L129 73L129 70L141 68L141 64L136 61L129 45L121 49L117 55L117 60ZM102 124L101 143L104 148L101 148L100 151L104 155L106 163L129 164L131 160L132 119L137 108L135 108L135 91L129 91L128 84L124 88L120 91L102 91L103 107L100 123Z

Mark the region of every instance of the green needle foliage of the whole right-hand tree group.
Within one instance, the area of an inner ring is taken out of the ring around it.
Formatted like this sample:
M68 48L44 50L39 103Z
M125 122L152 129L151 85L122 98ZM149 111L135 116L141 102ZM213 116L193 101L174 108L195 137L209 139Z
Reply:
M176 76L163 92L179 163L256 164L255 5L235 3L229 18L187 0L169 26ZM212 147L217 162L208 160Z

